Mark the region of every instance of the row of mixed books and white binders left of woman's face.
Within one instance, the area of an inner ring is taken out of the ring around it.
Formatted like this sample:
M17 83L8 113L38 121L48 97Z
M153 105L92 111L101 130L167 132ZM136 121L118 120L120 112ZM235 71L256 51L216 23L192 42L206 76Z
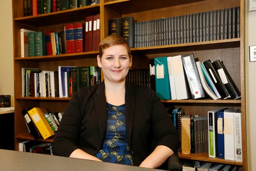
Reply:
M99 67L59 66L58 71L22 68L23 97L71 97L82 87L101 82Z

